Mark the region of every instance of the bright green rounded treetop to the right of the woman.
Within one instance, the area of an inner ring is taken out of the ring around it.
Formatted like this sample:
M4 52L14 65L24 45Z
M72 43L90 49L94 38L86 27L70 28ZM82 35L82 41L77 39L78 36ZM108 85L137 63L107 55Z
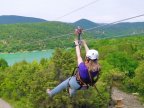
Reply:
M125 72L130 78L134 77L134 70L137 68L138 63L126 53L111 53L107 56L107 61L115 68L119 68L122 72Z

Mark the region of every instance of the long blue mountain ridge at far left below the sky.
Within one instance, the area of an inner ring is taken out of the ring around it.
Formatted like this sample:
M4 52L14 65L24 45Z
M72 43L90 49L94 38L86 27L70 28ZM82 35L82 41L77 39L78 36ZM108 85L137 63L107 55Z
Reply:
M15 24L15 23L33 23L33 22L46 22L47 20L34 18L34 17L24 17L16 15L2 15L0 16L0 24Z

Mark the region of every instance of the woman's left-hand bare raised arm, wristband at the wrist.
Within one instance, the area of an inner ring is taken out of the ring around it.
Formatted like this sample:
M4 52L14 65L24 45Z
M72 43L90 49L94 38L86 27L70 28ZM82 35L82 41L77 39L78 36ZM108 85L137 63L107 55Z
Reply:
M79 47L79 44L78 44L78 40L75 40L75 48L76 48L76 56L77 56L77 63L78 65L83 62L82 60L82 57L81 57L81 52L80 52L80 47Z

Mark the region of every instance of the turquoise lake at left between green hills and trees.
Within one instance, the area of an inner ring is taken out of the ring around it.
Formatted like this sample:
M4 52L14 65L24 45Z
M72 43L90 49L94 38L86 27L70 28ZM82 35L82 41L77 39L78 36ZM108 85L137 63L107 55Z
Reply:
M37 60L38 62L42 58L50 58L54 50L46 50L46 51L32 51L32 52L18 52L18 53L2 53L0 54L0 58L5 59L8 62L8 65L11 66L14 63L20 61L32 62Z

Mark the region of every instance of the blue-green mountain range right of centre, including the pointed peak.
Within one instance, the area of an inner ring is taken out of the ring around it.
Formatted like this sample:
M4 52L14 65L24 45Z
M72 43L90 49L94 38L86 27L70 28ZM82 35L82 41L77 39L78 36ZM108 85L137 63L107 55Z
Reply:
M122 22L118 24L95 23L87 19L81 19L73 23L74 26L81 26L84 29L91 29L87 32L94 37L105 38L113 36L134 35L144 33L144 22Z

